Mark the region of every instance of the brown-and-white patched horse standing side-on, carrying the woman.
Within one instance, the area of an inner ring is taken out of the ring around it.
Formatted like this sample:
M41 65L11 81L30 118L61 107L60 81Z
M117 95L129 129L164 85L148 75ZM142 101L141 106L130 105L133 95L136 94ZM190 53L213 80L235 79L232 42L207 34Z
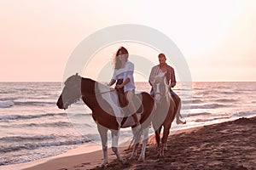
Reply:
M109 102L114 96L117 96L115 90L100 82L80 77L78 74L68 77L64 85L56 105L60 109L66 110L69 105L72 105L82 98L84 104L90 108L92 117L97 124L97 129L102 139L104 160L101 166L104 167L108 163L108 130L112 133L112 150L119 161L125 164L125 160L122 159L118 152L119 128L135 127L135 122L131 116L118 117L116 115L121 109ZM139 107L137 107L139 108L137 112L142 112L142 114L138 116L140 117L141 129L132 128L135 144L131 158L137 155L137 145L143 133L143 148L139 157L139 160L143 161L145 158L146 145L148 144L148 128L153 118L154 99L148 93L144 92L136 96L141 100L141 102L137 102L137 104L140 104ZM128 122L129 119L130 124Z

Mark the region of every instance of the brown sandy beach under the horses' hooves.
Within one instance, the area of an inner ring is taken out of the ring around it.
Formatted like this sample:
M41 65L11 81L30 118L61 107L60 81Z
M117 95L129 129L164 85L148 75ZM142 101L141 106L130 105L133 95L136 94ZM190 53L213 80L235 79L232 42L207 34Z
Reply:
M256 169L256 117L240 118L170 135L164 158L156 156L154 136L149 139L146 160L122 165L108 150L104 169ZM120 148L127 160L131 150ZM26 170L102 169L102 150L46 161Z

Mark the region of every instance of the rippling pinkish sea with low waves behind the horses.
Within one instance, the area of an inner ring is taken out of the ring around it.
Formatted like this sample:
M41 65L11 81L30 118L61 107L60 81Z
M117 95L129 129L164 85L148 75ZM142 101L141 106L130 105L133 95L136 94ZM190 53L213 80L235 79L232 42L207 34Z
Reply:
M150 91L148 82L136 87L137 92ZM192 82L190 88L183 87L177 83L173 91L182 99L186 124L174 122L171 133L256 116L256 82ZM101 144L82 101L66 111L58 109L61 88L61 82L0 82L0 168L60 155L81 144ZM149 133L154 133L152 127ZM119 144L131 140L131 128L122 129Z

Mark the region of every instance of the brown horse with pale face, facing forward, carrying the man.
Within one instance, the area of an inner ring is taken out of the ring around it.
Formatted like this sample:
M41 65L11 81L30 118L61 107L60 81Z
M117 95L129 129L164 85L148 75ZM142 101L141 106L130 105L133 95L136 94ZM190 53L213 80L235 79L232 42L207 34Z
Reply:
M156 113L153 118L153 127L155 140L157 143L158 156L164 156L167 138L172 122L175 118L177 107L166 84L166 77L155 77L154 83L154 101L156 103ZM161 128L164 127L163 136L160 141ZM160 144L161 143L161 144Z

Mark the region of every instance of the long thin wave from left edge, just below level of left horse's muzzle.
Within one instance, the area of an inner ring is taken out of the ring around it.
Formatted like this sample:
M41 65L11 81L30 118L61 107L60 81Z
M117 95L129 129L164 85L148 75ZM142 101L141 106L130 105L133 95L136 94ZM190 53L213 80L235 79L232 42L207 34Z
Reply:
M0 120L33 119L33 118L40 118L44 116L67 116L67 114L66 113L48 113L48 114L39 114L39 115L9 115L9 116L0 116Z

